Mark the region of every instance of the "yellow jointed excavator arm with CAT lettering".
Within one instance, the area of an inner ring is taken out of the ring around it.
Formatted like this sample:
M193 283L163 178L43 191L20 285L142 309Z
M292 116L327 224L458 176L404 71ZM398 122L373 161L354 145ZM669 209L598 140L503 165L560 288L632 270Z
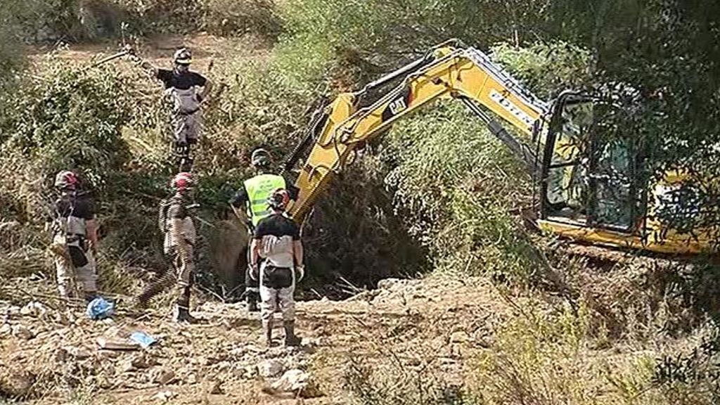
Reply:
M285 165L285 169L294 166L300 159L301 149L310 140L314 141L295 182L300 197L289 208L295 221L304 221L320 193L353 160L356 148L435 99L462 100L494 135L531 169L536 169L538 157L527 141L531 144L539 141L535 134L540 131L534 126L542 125L546 119L547 104L523 89L485 53L451 43L438 45L423 58L367 84L359 92L339 94L312 120L307 140L298 146ZM361 106L368 92L400 78L401 83L394 89L369 105ZM513 125L527 136L527 141L508 133L485 110Z

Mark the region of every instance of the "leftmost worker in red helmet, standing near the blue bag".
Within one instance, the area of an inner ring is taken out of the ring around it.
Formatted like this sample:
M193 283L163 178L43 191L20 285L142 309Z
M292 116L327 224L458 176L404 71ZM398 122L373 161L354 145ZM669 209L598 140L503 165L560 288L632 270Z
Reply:
M73 295L73 279L83 291L83 298L92 301L97 295L97 271L94 252L97 246L97 223L91 198L78 192L78 177L68 170L55 176L60 197L55 200L46 228L53 231L52 250L58 290L63 298Z

